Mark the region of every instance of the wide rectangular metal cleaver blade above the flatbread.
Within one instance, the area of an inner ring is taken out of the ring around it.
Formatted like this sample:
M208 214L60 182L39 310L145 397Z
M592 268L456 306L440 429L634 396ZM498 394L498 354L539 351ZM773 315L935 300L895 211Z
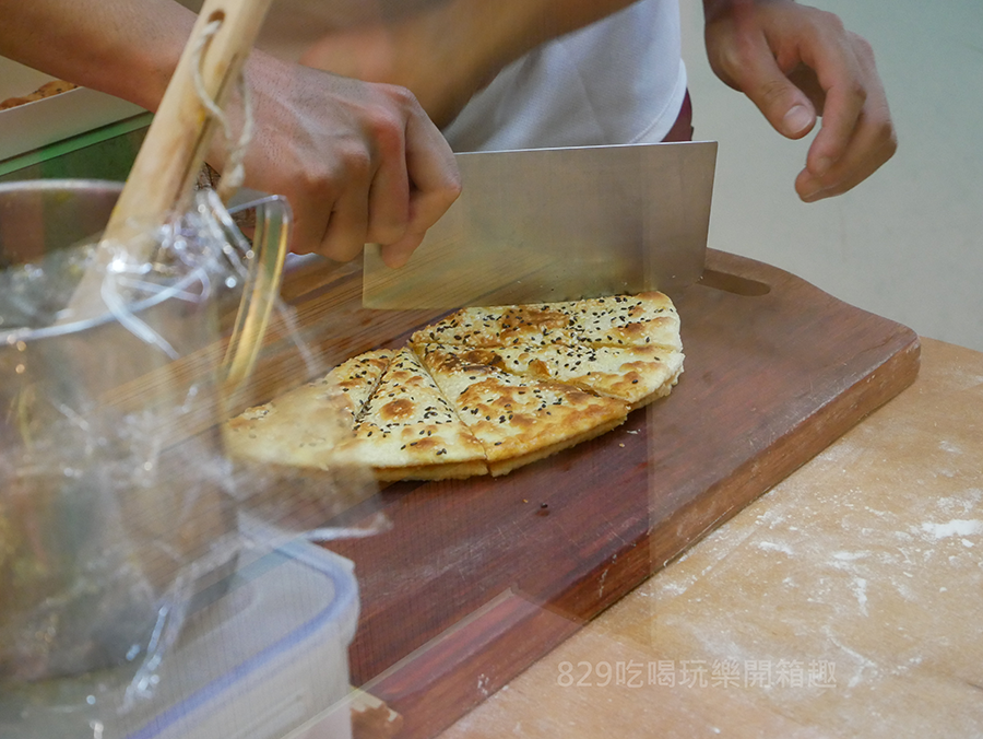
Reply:
M455 308L671 290L700 278L716 142L457 154L463 190L410 262L365 251L363 304Z

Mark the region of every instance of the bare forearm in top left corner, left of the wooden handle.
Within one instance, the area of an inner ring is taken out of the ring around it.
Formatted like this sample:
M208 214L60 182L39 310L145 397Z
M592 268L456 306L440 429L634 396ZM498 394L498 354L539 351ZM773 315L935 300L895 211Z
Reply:
M194 14L173 0L0 0L0 55L156 109Z

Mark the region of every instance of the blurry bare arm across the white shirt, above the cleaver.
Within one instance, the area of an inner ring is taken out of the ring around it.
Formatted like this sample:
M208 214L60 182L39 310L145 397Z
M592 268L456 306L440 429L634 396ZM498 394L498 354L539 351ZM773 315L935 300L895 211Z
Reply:
M636 0L437 0L390 22L325 36L305 64L408 87L446 126L507 64Z

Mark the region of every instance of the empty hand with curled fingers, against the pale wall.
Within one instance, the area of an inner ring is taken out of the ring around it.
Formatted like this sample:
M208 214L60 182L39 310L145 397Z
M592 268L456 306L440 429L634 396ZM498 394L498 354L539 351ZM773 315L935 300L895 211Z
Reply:
M866 40L836 15L792 0L704 0L710 67L745 93L777 131L822 126L795 180L806 202L869 177L898 148Z

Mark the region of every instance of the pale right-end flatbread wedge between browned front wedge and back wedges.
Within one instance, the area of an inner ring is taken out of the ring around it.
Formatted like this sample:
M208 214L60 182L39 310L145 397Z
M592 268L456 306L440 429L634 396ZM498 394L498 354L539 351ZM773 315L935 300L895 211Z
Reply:
M485 351L485 350L482 350ZM683 372L683 352L643 347L500 347L494 351L507 372L552 379L618 398L631 410L670 394Z

